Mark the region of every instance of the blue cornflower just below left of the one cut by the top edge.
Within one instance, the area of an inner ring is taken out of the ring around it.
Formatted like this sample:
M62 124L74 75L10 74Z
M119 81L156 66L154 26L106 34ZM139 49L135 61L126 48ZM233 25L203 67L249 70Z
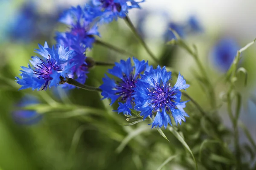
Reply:
M99 36L98 27L93 24L93 21L100 14L101 11L88 5L84 8L81 8L81 6L71 7L64 11L59 21L70 26L70 30L67 33L76 36L84 48L92 48L95 42L94 36ZM58 36L56 40L58 42Z

